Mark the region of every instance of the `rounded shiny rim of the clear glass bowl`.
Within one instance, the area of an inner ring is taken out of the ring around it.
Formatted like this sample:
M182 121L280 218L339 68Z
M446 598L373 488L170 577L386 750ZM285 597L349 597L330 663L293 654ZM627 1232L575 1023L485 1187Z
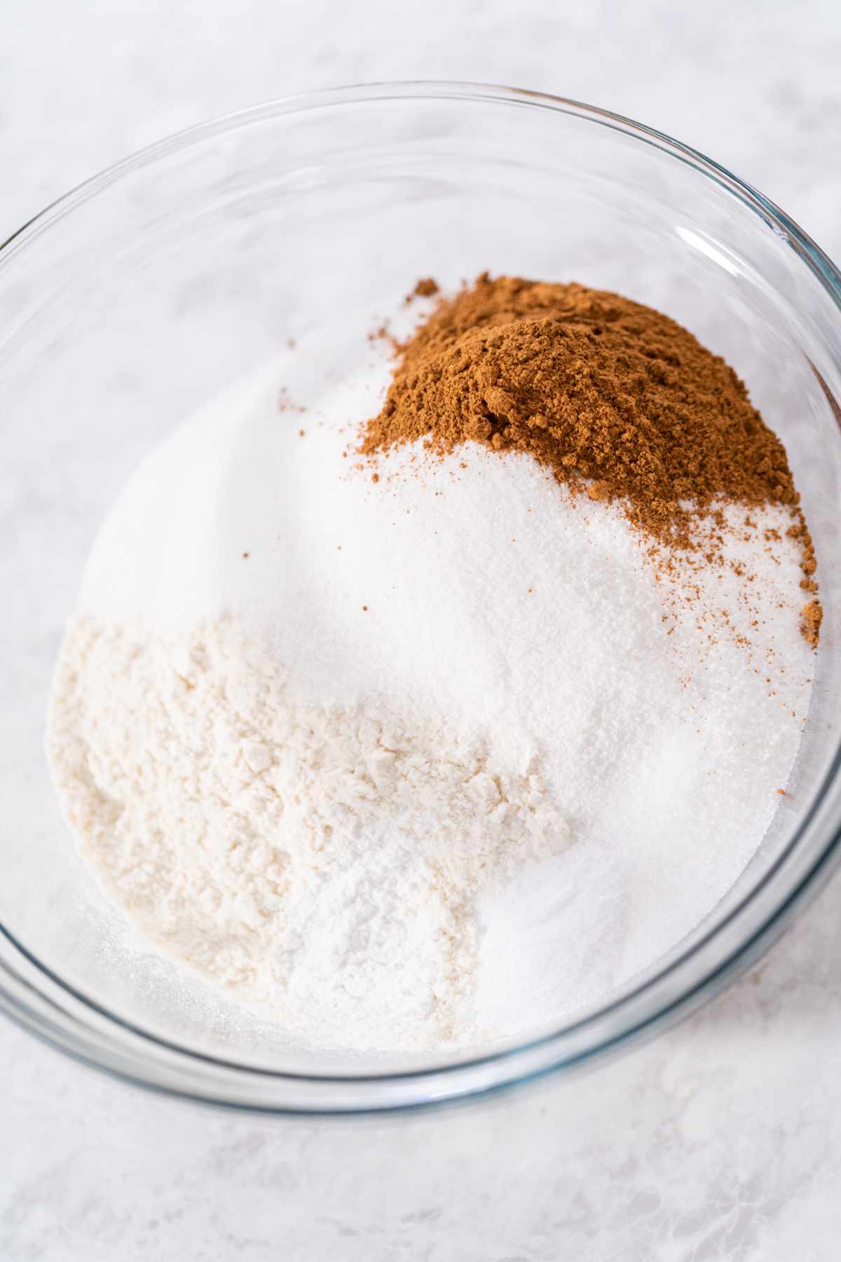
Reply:
M284 115L393 100L527 106L605 126L652 145L692 167L757 215L794 250L841 312L841 273L828 256L774 202L699 150L624 115L567 97L493 83L436 80L362 83L295 93L178 131L82 182L28 220L0 244L0 271L14 255L28 249L58 220L142 167L214 136ZM11 968L4 959L0 959L0 1011L77 1060L137 1085L204 1103L271 1113L347 1114L429 1107L484 1095L580 1065L617 1050L632 1039L651 1035L699 1007L733 976L746 968L779 935L807 895L817 892L832 868L841 862L841 793L836 791L833 795L837 801L830 800L831 790L840 787L840 772L841 748L836 748L807 815L799 822L784 849L751 888L700 939L676 953L663 967L652 967L642 981L603 1007L538 1039L487 1055L382 1074L285 1073L208 1055L161 1039L102 1007L38 960L3 924L0 935L25 962L25 972L34 970L37 977L58 987L61 994L79 1011L68 1011L50 996L43 994L28 976ZM815 853L802 854L799 862L793 863L793 871L782 883L782 893L768 897L769 887L784 876L782 868L791 866L796 858L794 851L804 829L821 813L830 817L822 824L827 830L823 843ZM763 895L768 902L764 907L760 906ZM716 944L721 945L725 931L734 929L736 924L743 926L738 944L716 952L714 948ZM697 968L701 962L704 967ZM687 984L686 974L692 964L696 965L695 977ZM683 984L680 984L681 978L685 979ZM90 1015L91 1020L83 1013ZM102 1018L107 1022L106 1030L102 1029ZM598 1036L599 1029L605 1023L613 1029L603 1030L601 1036ZM594 1034L595 1037L588 1037ZM197 1071L204 1075L198 1082ZM221 1075L217 1082L208 1079L208 1074L212 1076L213 1073ZM240 1090L235 1089L237 1079L242 1080ZM267 1099L261 1089L267 1082L275 1087L282 1085L286 1090ZM305 1090L306 1087L314 1087L315 1090Z

